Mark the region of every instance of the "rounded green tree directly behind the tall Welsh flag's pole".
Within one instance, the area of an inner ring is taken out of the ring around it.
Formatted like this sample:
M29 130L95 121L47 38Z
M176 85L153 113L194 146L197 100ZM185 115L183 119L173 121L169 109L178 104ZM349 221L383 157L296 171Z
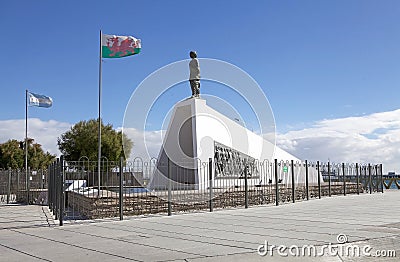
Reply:
M101 155L108 160L119 160L124 157L124 146L129 154L132 149L132 141L122 134L121 131L113 129L112 125L101 123ZM98 155L98 121L80 121L58 138L58 148L64 155L65 160L78 160L88 157L97 160ZM124 157L125 158L125 157Z

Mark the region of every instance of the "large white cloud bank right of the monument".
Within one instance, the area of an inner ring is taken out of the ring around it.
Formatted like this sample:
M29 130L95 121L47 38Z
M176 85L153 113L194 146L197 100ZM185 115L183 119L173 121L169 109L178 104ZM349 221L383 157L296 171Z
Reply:
M359 117L322 120L277 135L277 145L309 160L382 163L400 168L400 109Z

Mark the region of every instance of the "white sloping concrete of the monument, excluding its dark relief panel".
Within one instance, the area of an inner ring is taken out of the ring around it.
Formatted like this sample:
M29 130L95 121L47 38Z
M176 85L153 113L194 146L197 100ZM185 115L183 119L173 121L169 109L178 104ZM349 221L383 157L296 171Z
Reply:
M288 152L276 147L273 143L246 129L236 121L226 117L206 104L206 100L190 98L175 105L168 125L167 133L161 147L157 169L149 183L151 189L165 189L168 186L168 168L173 188L199 189L208 187L208 163L211 158L215 161L215 145L222 144L237 154L245 155L248 159L264 163L266 166L273 162L290 161L301 163L301 160ZM169 160L169 161L168 161ZM267 162L264 162L267 161ZM214 167L215 168L215 167ZM281 169L281 168L280 168ZM305 168L300 173L305 173ZM304 172L303 172L304 171ZM257 170L258 173L259 170ZM275 181L271 170L265 171L264 179L255 176L250 184ZM298 172L299 173L299 172ZM224 186L236 185L238 174L232 174L225 179ZM279 176L283 183L291 183L289 175ZM266 179L267 178L267 179ZM309 183L317 183L317 172L309 168ZM296 174L295 183L304 183L305 176ZM321 181L322 176L321 176Z

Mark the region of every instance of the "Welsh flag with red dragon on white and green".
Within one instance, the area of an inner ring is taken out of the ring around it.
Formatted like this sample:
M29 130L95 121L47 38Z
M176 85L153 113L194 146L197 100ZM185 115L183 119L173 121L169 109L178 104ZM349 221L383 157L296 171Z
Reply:
M140 53L140 39L133 36L101 35L103 58L120 58Z

